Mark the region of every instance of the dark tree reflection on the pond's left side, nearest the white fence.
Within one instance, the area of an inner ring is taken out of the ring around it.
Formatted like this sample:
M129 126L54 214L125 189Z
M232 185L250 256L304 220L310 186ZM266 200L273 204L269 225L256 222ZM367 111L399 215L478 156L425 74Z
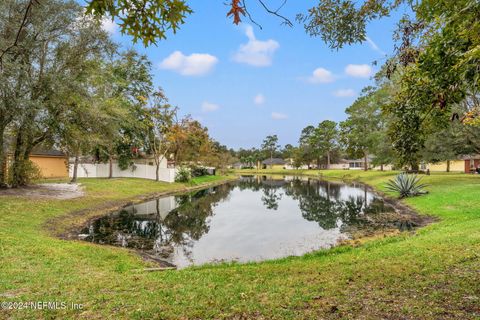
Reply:
M163 258L173 252L174 246L181 246L188 257L193 241L209 231L207 218L213 214L213 207L225 200L232 188L224 184L177 196L178 207L163 220L157 199L156 213L135 214L133 210L121 210L95 220L83 232L90 234L86 240L92 242L154 251Z

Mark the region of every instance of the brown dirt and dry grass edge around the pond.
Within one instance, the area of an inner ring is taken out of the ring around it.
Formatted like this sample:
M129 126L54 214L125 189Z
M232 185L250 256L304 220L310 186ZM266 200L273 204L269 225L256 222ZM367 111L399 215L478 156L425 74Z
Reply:
M306 175L303 175L306 176ZM324 177L317 177L317 176L310 176L311 178L314 179L322 179L322 180L342 180L342 179L325 179ZM135 196L135 197L130 197L127 199L119 199L119 200L112 200L112 201L106 201L100 205L96 205L91 208L85 208L85 209L80 209L80 210L74 210L71 211L65 215L60 215L57 217L54 217L52 219L47 220L43 224L44 230L47 230L47 232L52 235L53 237L62 239L62 240L68 240L68 241L81 241L78 238L79 235L79 230L90 223L92 220L95 220L101 216L108 215L110 213L116 212L120 210L121 208L128 206L128 205L133 205L137 203L142 203L145 201L149 201L158 197L165 197L165 196L171 196L171 195L178 195L186 192L191 192L191 191L196 191L196 190L201 190L209 187L214 187L218 185L222 185L225 183L228 183L230 181L235 181L238 179L238 176L235 178L229 178L221 181L215 181L211 183L203 183L199 184L196 186L191 186L191 187L183 187L175 190L168 190L168 191L162 191L162 192L155 192L155 193L150 193L146 195L141 195L141 196ZM352 182L351 180L343 180L345 183ZM421 227L427 226L433 222L439 221L438 218L429 216L429 215L421 215L417 213L413 208L409 207L405 203L402 203L400 199L395 199L391 198L387 195L385 195L383 192L375 189L374 187L363 183L359 181L355 181L356 183L360 183L364 185L368 191L377 194L378 196L382 197L385 203L388 205L392 206L395 210L396 213L398 213L400 216L408 217L409 221L412 221L415 223L415 228L413 231L410 231L411 234L413 234L416 230L418 230ZM389 236L396 236L399 235L400 232L397 230L395 232L394 229L384 229L384 230L379 230L375 231L370 234L359 234L357 236L353 236L350 239L347 240L340 240L337 245L334 247L338 246L358 246L361 245L362 243L368 241L368 240L374 240L378 239L379 237L389 237ZM96 244L92 244L96 245ZM107 245L108 246L108 245ZM115 246L112 246L113 248L118 248ZM123 248L124 250L127 250L133 254L136 254L137 256L140 256L144 261L154 263L156 265L159 265L161 268L170 268L174 267L170 263L158 259L146 252L141 252L139 250L135 249L128 249L128 248Z

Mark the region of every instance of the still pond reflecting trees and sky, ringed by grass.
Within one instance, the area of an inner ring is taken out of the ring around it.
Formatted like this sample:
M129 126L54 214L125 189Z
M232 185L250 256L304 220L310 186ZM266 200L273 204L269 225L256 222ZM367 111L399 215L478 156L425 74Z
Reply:
M298 256L359 232L397 227L411 223L399 220L392 206L362 184L242 176L126 206L89 222L79 237L184 268Z

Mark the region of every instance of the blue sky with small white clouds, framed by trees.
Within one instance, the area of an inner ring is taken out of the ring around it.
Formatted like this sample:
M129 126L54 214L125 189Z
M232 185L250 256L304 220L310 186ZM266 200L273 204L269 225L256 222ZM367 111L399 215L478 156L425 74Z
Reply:
M208 3L208 4L207 4ZM270 3L275 3L273 0ZM282 13L293 21L315 1L289 1ZM226 18L224 1L191 1L194 13L176 35L144 48L122 36L111 23L105 28L125 48L135 47L153 63L161 86L182 114L191 114L229 147L258 147L277 134L280 144L296 144L300 131L322 120L341 121L360 90L372 83L378 67L393 50L392 33L403 12L371 23L372 43L329 49L303 27L255 7L250 11L263 29L244 19Z

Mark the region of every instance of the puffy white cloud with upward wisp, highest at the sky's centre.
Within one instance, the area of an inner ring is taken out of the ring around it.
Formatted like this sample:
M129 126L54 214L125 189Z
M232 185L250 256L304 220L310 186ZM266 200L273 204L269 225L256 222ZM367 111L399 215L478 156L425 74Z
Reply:
M273 54L280 47L280 44L273 40L257 40L253 33L253 27L246 26L245 35L248 37L246 44L240 45L233 60L239 63L246 63L255 67L268 67L272 64Z

